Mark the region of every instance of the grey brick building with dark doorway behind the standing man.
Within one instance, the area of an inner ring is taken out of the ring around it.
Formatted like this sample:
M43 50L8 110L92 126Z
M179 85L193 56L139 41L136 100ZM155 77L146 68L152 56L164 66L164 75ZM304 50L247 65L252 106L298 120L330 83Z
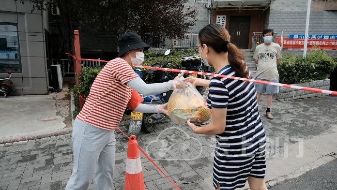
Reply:
M262 42L259 32L274 29L277 37L304 35L307 0L213 0L213 23L222 24L234 44L242 49ZM312 0L309 35L337 35L337 0ZM255 36L254 36L255 35ZM336 50L326 50L337 57ZM303 54L303 49L284 49L284 52Z

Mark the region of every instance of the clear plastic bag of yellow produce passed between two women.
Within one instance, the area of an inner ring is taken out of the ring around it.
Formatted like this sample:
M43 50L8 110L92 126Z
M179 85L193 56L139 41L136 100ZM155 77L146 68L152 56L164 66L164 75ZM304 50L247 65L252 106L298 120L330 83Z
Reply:
M186 89L176 89L168 100L168 116L183 125L188 119L206 122L212 117L212 110L192 83Z

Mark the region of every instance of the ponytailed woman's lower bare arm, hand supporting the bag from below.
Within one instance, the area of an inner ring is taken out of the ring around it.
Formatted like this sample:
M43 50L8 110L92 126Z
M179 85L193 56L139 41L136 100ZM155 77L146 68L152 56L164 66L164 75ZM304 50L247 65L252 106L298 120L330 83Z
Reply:
M199 134L221 134L225 131L226 128L226 116L227 116L227 108L212 108L213 112L213 121L203 127L198 127L187 121L188 126L193 130L195 133Z

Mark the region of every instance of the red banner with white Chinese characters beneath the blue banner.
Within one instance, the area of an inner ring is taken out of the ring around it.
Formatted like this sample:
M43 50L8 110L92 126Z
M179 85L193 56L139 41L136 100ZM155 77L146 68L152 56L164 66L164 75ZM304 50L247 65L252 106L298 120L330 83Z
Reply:
M277 38L276 42L281 45L281 38ZM313 47L337 50L337 40L308 39L307 49L312 49ZM283 49L304 49L304 39L283 38Z

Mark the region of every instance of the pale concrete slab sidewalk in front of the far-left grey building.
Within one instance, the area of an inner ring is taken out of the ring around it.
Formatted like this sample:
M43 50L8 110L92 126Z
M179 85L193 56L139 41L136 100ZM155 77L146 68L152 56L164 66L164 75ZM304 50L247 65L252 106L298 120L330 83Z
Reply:
M0 140L71 127L69 99L68 85L48 95L0 98Z

